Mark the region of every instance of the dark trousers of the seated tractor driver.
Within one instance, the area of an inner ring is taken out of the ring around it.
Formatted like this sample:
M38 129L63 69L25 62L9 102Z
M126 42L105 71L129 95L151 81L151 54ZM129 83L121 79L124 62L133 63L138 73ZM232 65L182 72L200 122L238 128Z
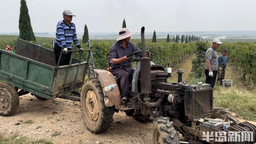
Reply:
M132 81L133 68L113 68L111 73L121 81L121 98L129 96L129 80Z

